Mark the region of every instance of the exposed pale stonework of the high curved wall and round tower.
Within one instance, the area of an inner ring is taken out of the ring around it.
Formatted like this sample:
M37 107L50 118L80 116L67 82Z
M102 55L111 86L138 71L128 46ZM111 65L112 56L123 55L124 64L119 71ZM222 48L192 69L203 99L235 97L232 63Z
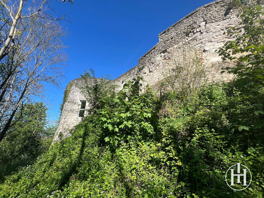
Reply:
M132 79L136 74L140 74L145 84L157 88L168 69L166 68L168 64L164 64L164 61L169 60L174 51L172 49L181 47L183 42L202 50L206 77L209 81L230 81L233 76L220 72L222 67L232 63L223 62L215 50L229 39L227 35L223 35L226 29L240 22L237 18L238 12L232 7L230 0L218 0L197 8L161 32L158 35L159 42L138 60L138 65L116 78L113 83L119 85L121 89L127 78ZM81 100L85 100L84 96L76 86L73 86L64 104L54 141L59 139L60 133L63 134L63 138L69 136L69 129L81 121L78 117Z

